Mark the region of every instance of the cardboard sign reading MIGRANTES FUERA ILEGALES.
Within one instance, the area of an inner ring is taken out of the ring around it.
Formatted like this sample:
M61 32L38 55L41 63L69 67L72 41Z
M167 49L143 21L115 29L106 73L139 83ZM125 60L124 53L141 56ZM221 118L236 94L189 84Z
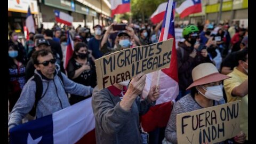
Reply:
M124 49L95 60L99 90L140 73L169 68L173 38L151 45Z

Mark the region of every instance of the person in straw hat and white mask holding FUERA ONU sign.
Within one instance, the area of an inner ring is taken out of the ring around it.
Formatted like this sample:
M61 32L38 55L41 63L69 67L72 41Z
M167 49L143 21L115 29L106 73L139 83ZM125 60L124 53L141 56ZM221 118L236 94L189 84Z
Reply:
M177 114L225 103L221 82L224 79L230 78L229 76L220 74L218 69L212 63L201 63L192 70L192 77L193 83L187 88L187 90L191 89L191 93L185 95L185 97L182 97L174 104L169 122L165 129L165 138L172 143L177 143ZM204 118L206 117L207 116ZM211 122L211 119L209 119L206 119L206 121ZM200 121L197 121L196 125L199 125L200 127L201 121L203 120L201 119ZM245 134L240 132L234 138L234 141L243 143L245 141Z

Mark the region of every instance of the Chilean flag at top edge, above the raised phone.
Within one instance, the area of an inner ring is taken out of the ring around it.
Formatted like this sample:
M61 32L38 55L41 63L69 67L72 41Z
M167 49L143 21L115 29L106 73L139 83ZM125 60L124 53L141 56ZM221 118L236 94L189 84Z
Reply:
M121 14L131 11L130 0L110 0L111 17L115 14Z

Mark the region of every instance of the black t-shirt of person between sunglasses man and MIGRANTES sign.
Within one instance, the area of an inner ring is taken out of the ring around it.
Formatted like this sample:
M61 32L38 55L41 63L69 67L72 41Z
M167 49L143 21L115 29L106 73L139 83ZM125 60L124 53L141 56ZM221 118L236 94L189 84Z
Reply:
M87 64L90 65L91 69L83 71L81 75L79 75L75 79L72 79L72 81L86 86L95 87L97 77L94 62L89 59L89 61L87 61ZM75 71L81 67L82 65L80 63L78 63L74 58L71 58L68 62L67 67L68 78L71 79L75 75Z

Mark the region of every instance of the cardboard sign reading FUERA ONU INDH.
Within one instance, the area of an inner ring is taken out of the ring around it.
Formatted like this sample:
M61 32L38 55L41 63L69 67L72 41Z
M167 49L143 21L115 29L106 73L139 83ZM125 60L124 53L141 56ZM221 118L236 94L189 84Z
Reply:
M177 115L178 143L216 143L240 132L241 101Z

